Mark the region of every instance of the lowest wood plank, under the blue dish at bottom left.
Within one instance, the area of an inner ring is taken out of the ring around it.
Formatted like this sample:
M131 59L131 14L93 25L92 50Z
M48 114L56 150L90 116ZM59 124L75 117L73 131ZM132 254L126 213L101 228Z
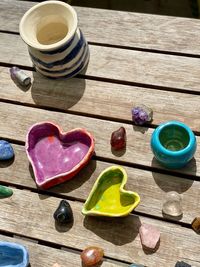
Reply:
M24 245L29 251L30 264L33 267L53 267L57 262L60 267L81 266L81 260L78 253L72 253L69 250L54 249L48 246L35 244L31 241L24 240L20 237L7 237L0 235L1 241L15 242ZM127 266L122 263L111 263L103 261L102 267Z

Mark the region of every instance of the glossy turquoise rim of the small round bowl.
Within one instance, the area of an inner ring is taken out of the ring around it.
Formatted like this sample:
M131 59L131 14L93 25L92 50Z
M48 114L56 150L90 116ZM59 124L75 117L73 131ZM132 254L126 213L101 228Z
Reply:
M162 143L160 142L160 133L162 130L164 130L166 127L168 126L178 126L178 127L181 127L183 128L189 135L189 142L188 142L188 145L186 147L184 147L183 149L180 149L178 151L172 151L172 150L169 150L167 148L165 148ZM155 141L159 147L159 150L168 155L168 156L182 156L184 154L187 154L187 152L190 151L190 149L195 145L196 143L196 137L193 133L193 131L184 123L182 122L179 122L179 121L168 121L166 123L163 123L161 125L159 125L156 129L155 129Z

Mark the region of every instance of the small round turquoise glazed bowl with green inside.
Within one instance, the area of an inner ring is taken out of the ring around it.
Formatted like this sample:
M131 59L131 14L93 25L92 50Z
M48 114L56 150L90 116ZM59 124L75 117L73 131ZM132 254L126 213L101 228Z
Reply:
M179 121L168 121L159 125L151 137L154 156L170 169L184 167L193 158L196 147L194 133Z

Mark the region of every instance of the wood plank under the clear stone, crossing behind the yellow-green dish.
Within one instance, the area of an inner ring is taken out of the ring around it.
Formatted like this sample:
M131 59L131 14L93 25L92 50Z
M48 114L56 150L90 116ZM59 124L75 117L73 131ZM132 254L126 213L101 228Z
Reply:
M0 163L0 182L36 188L34 176L23 146L13 145L15 160ZM50 192L85 201L99 174L111 164L92 160L74 179L53 187ZM190 224L196 217L200 203L200 182L150 171L125 167L128 174L126 188L138 192L141 203L136 211L162 218L162 204L166 192L176 190L182 195L183 217ZM153 196L153 197L152 197Z

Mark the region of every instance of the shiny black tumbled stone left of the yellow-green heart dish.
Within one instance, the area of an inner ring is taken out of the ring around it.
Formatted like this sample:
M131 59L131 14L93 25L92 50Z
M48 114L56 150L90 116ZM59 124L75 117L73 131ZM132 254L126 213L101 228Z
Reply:
M61 200L58 208L54 212L54 219L61 224L73 222L73 213L69 203Z

